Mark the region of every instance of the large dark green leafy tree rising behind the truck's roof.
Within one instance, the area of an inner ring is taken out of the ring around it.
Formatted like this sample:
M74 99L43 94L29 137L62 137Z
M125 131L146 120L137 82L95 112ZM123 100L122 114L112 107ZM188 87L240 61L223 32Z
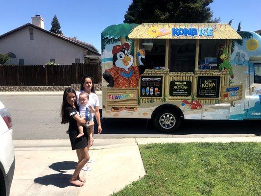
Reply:
M123 23L216 23L213 0L133 0Z

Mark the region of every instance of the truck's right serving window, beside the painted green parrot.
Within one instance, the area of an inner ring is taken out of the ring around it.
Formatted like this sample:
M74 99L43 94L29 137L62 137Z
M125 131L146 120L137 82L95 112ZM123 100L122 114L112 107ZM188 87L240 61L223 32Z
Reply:
M224 44L225 40L220 39L199 40L198 69L218 69L218 65L222 63L220 56L223 53L221 48Z

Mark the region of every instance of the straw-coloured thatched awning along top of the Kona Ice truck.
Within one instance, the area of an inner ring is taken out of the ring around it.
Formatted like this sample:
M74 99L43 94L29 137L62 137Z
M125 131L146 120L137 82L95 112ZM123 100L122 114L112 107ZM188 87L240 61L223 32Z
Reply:
M172 28L211 28L213 36L172 36ZM228 24L145 24L137 26L128 35L130 39L242 39Z

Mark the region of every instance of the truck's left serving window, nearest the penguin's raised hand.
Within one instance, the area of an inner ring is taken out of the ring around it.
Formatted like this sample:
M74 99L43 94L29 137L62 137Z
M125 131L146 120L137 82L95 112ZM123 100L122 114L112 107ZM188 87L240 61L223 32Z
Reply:
M142 39L141 48L144 49L146 53L146 69L165 69L165 39Z

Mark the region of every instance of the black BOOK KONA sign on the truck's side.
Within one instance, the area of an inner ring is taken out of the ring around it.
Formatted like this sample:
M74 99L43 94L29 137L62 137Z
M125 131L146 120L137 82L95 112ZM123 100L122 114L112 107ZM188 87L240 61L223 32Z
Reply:
M219 98L220 76L198 76L197 98Z

